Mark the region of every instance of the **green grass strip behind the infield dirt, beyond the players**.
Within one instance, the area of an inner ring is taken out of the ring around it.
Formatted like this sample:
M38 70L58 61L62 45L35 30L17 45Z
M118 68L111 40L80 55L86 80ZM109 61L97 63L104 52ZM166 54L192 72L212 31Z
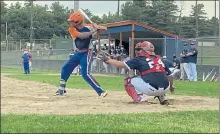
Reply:
M55 71L33 71L31 75L23 74L20 69L6 69L2 68L2 73L13 73L16 75L9 75L8 77L17 78L21 80L38 81L42 83L49 83L52 85L59 85L60 76ZM48 75L56 73L57 75ZM101 84L105 90L119 90L124 91L123 80L124 77L103 77L95 76L96 80ZM178 87L179 95L199 95L199 96L212 96L218 97L218 83L214 82L186 82L186 81L175 81L175 86ZM81 76L72 75L67 82L67 88L80 88L90 89L90 86L83 80Z

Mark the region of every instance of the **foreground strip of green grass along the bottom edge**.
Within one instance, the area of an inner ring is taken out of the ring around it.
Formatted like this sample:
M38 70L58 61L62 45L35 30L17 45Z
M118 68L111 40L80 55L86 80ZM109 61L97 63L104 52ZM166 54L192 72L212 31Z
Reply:
M218 111L99 115L2 115L3 133L217 133Z

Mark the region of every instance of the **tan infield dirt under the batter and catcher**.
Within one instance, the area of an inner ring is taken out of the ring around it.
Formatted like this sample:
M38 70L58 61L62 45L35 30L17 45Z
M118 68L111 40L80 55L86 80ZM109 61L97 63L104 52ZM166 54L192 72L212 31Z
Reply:
M93 89L68 89L65 96L54 96L56 86L1 76L2 114L107 114L166 111L218 110L218 98L170 95L171 105L161 106L157 99L146 96L152 104L134 104L125 91L108 91L105 98Z

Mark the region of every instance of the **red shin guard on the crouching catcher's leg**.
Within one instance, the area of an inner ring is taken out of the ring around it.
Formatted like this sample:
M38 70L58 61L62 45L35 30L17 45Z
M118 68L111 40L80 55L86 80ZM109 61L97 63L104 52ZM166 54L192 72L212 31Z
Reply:
M124 80L124 88L134 102L140 102L141 97L137 94L134 86L131 84L131 77L127 77Z

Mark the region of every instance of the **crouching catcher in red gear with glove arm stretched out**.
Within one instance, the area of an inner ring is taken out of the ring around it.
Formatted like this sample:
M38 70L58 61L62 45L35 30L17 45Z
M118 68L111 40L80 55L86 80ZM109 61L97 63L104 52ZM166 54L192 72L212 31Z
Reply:
M168 105L166 92L170 85L171 72L161 61L160 56L154 53L154 45L148 41L139 42L135 46L135 58L126 62L112 59L105 53L100 53L98 58L104 62L120 68L137 70L140 76L127 77L124 80L124 88L134 102L147 102L143 94L155 96L161 105Z

